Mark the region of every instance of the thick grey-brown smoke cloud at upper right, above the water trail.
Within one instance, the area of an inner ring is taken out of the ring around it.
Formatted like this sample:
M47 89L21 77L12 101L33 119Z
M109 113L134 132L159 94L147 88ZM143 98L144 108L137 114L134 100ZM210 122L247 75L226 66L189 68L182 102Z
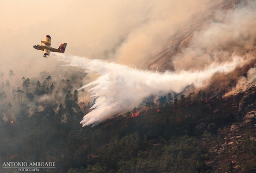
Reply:
M173 58L175 69L203 69L212 62L230 60L232 54L255 50L256 3L216 11L204 29L194 33L189 46Z

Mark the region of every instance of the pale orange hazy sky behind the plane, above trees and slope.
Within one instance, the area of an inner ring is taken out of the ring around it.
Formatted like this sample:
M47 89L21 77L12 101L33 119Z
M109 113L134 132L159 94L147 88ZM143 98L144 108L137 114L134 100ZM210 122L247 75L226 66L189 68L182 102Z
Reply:
M52 47L67 42L65 53L139 64L193 14L211 6L203 0L0 0L0 72L30 77L61 68L33 48L46 35Z

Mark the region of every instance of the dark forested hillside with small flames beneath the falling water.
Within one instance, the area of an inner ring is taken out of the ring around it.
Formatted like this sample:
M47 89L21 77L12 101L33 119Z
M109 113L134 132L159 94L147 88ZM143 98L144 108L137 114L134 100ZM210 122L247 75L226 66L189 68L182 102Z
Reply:
M93 103L78 101L71 79L22 81L2 85L1 163L56 162L40 171L65 173L256 171L255 86L229 97L221 88L169 93L82 128Z

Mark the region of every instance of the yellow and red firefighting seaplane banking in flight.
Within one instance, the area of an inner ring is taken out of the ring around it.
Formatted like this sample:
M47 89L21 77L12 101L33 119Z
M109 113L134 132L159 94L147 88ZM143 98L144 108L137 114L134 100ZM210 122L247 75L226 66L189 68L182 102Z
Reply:
M43 50L44 51L44 55L43 57L47 58L47 55L50 55L50 51L52 52L60 52L60 53L64 53L67 44L63 43L59 46L58 49L51 47L51 37L49 35L47 35L44 39L44 41L41 41L41 45L35 45L33 46L35 49L37 50ZM42 45L42 43L44 45Z

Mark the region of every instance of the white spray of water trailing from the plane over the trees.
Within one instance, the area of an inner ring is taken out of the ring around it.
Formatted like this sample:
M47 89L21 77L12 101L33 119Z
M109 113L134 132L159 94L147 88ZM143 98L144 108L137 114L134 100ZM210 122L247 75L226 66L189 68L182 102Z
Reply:
M150 95L182 92L187 86L203 87L216 73L229 73L243 64L241 57L234 57L226 63L212 63L203 70L165 73L138 70L128 66L98 59L53 54L69 66L80 67L88 73L97 73L99 77L78 90L88 88L96 102L92 111L84 115L82 126L96 125L120 113L126 113Z

